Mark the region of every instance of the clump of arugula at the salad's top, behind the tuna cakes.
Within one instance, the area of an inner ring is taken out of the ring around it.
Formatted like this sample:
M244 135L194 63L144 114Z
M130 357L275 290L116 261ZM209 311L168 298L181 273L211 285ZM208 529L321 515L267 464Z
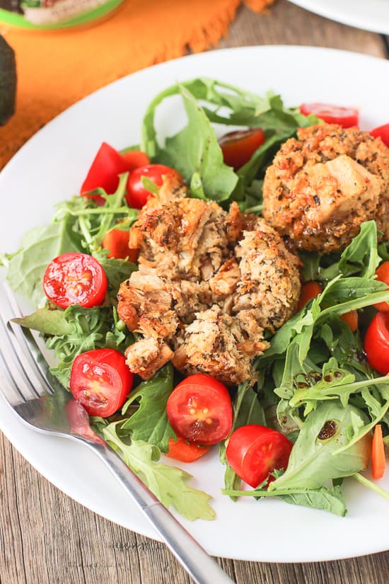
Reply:
M154 124L156 109L166 98L180 94L187 113L187 125L163 146L158 143ZM141 147L151 159L173 166L190 184L194 197L219 202L236 200L242 210L257 206L262 189L251 185L280 144L296 133L298 127L320 123L315 116L303 116L284 107L280 96L258 96L231 84L199 78L166 88L151 101L142 124ZM223 164L223 155L211 123L262 127L265 144L238 174Z

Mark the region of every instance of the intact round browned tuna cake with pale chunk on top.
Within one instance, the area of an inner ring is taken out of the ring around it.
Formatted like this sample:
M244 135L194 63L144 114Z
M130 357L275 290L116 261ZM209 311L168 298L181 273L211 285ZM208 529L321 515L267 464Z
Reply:
M342 250L368 219L389 239L389 149L356 127L300 129L267 168L263 196L267 222L299 249Z

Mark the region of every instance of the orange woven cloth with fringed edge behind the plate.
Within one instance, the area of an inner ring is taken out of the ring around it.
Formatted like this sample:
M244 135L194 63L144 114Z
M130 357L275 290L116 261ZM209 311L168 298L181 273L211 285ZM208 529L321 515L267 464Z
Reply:
M262 11L274 0L245 0ZM95 89L152 64L216 46L240 0L124 0L90 28L0 28L16 54L16 113L0 128L0 168L55 115Z

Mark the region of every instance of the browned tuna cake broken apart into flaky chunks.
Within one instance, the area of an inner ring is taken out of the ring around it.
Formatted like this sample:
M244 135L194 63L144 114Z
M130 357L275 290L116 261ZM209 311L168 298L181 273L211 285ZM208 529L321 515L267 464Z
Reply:
M141 338L127 349L149 379L172 360L183 373L227 384L254 381L253 361L296 309L298 258L255 215L167 190L130 232L139 271L119 291L120 318Z

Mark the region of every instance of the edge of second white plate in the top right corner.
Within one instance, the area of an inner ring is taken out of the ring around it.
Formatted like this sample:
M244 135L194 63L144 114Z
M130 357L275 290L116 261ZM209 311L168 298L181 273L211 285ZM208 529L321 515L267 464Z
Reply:
M388 0L290 0L293 4L372 33L389 35Z

